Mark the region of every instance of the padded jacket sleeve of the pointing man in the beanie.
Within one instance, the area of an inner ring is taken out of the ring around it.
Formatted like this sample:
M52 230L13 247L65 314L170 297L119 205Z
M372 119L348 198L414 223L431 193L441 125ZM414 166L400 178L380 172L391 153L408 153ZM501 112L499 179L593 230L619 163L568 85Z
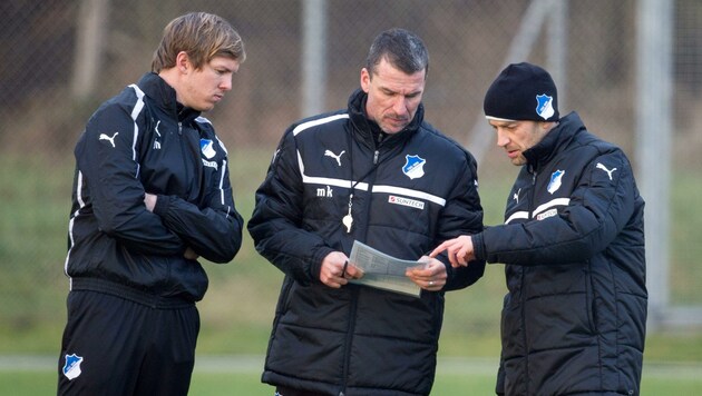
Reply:
M608 172L597 168L616 168ZM595 157L557 216L501 225L474 236L476 256L489 263L557 265L578 263L604 250L624 229L636 208L631 165L621 151Z

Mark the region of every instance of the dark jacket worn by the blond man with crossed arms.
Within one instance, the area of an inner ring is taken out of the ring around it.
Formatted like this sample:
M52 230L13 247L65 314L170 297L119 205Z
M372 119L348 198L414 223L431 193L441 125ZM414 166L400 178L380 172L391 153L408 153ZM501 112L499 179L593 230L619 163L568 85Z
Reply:
M207 276L186 247L215 263L242 242L227 152L209 121L182 108L160 77L100 106L75 149L66 274L71 290L149 305L203 298ZM154 212L145 192L158 196Z

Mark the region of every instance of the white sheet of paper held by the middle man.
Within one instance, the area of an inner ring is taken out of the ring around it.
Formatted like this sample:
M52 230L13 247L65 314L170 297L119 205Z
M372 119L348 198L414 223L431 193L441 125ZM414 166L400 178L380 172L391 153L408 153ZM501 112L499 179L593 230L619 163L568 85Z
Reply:
M423 267L423 261L401 260L354 240L349 263L363 271L361 279L352 279L351 283L416 297L421 293L421 288L404 276L404 271L411 267Z

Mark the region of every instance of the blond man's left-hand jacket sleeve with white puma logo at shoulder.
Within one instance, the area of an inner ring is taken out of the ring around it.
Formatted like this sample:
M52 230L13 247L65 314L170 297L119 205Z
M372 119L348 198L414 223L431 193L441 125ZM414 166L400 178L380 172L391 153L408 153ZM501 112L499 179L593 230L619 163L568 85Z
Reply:
M139 118L131 109L111 103L90 118L76 146L79 175L87 186L86 207L101 231L133 253L174 255L185 250L183 240L144 205L138 178Z

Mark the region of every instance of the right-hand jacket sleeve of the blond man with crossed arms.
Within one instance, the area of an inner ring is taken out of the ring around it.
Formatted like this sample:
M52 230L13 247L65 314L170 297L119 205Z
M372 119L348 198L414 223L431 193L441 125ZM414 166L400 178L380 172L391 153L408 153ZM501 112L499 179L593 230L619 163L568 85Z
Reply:
M222 151L226 149L220 141ZM176 196L158 196L154 214L196 254L213 263L228 263L242 246L244 220L236 211L230 181L228 157L218 161L216 184L207 187L199 208Z

